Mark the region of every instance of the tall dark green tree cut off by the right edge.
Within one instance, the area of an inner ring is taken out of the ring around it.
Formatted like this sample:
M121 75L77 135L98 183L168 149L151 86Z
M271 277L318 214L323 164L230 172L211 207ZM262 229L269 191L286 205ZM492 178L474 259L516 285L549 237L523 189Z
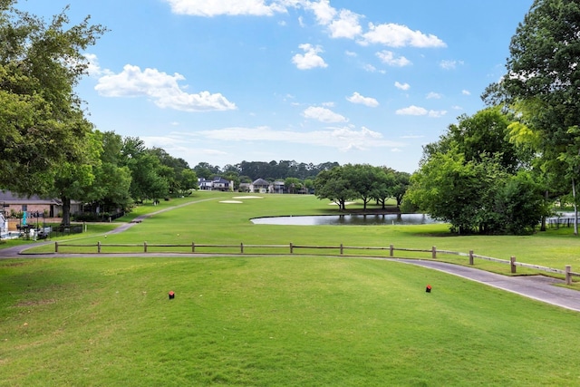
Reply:
M574 194L580 172L578 63L580 3L535 0L512 37L506 76L484 93L488 103L503 103L518 113L514 137L534 139L546 180L565 180ZM575 223L577 234L577 215Z

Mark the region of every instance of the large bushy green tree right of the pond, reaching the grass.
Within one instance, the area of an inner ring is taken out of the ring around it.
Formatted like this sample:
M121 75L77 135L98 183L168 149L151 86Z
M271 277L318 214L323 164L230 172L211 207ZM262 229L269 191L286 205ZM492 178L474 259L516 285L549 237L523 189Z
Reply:
M542 185L532 179L527 152L509 142L510 121L501 114L487 109L450 125L425 147L405 198L461 234L534 230L547 213Z

